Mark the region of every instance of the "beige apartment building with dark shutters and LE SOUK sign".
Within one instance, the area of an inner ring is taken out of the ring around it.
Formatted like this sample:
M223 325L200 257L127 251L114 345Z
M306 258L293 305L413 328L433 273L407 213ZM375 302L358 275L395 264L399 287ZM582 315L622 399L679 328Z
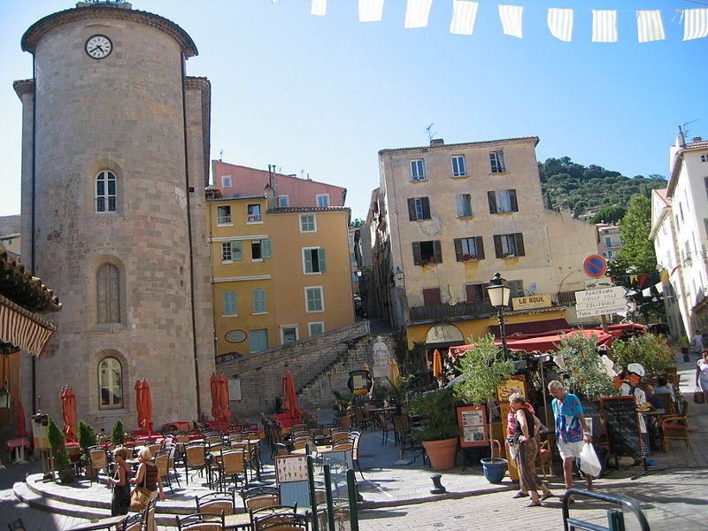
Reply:
M596 229L544 208L537 143L535 136L433 140L379 152L381 188L369 216L374 268L386 264L384 304L406 328L409 347L493 331L484 288L497 272L512 288L507 331L575 320L564 303L585 287L582 262L596 253Z

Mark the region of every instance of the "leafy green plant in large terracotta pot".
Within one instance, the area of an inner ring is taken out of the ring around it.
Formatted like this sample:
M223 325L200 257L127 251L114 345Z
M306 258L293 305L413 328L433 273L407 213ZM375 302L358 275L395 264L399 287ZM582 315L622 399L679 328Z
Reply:
M413 397L409 410L427 424L413 430L412 437L422 443L433 470L455 467L459 428L455 420L455 394L452 389L435 389Z

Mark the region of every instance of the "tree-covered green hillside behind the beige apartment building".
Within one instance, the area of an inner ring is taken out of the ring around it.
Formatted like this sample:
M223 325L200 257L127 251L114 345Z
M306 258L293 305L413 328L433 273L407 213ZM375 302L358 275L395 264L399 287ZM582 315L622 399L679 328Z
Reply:
M585 212L601 211L593 223L619 221L632 196L650 197L652 189L663 189L667 184L661 175L636 175L630 179L599 165L576 164L569 157L539 162L538 172L547 208L568 208L576 218Z

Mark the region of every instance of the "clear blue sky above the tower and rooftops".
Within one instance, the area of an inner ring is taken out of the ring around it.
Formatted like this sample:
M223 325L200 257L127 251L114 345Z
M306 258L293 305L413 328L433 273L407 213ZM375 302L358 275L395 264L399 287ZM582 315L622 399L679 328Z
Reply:
M474 35L451 35L451 0L428 27L404 29L404 0L381 22L358 22L356 0L135 0L173 20L199 55L189 75L212 81L212 158L348 189L366 217L381 149L537 135L541 161L568 156L627 176L667 174L677 126L708 137L708 39L681 41L688 0L507 0L523 5L524 38L504 35L499 2L480 1ZM32 77L19 40L72 2L0 0L0 215L19 213L20 104L12 81ZM546 27L573 8L573 42ZM619 42L590 42L593 9L618 10ZM662 10L666 40L637 42L636 10Z

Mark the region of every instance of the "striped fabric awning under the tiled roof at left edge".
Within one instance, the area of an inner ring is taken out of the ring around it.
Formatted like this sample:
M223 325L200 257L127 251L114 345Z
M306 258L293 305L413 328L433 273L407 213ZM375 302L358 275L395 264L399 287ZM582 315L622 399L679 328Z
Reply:
M57 327L0 295L0 351L19 349L41 356Z

